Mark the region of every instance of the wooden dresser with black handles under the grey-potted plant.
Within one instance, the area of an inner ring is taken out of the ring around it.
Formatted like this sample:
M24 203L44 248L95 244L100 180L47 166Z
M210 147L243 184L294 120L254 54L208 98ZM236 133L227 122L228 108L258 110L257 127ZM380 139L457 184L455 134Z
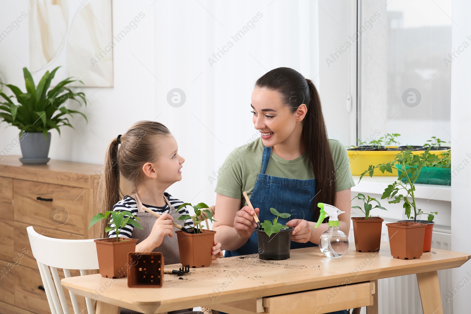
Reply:
M0 314L46 314L49 304L26 227L54 238L99 238L98 224L90 230L88 225L98 213L102 166L59 160L24 166L20 157L0 156Z

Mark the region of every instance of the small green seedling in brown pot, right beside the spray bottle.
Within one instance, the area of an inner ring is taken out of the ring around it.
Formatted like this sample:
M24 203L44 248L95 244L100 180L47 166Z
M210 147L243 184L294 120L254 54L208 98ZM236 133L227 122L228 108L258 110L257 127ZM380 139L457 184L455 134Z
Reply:
M353 221L353 234L355 235L355 248L358 252L376 252L380 249L381 228L384 220L381 217L371 217L370 211L375 208L387 209L369 195L358 193L352 201L355 199L363 201L363 208L361 206L352 206L352 208L360 209L365 214L365 217L351 217ZM373 207L371 202L376 202L377 204Z

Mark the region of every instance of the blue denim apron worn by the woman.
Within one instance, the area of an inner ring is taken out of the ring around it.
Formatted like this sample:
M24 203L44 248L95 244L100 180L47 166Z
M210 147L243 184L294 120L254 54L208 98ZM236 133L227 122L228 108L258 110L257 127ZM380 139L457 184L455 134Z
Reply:
M273 221L275 216L270 211L271 207L275 208L280 213L291 214L289 218L278 218L278 222L282 225L286 225L286 223L292 219L314 221L312 202L314 201L314 195L316 195L316 179L300 180L266 175L265 171L268 167L270 155L271 147L265 146L262 157L262 171L257 177L255 187L250 196L250 202L253 208L258 207L260 209L260 223L263 223L265 220ZM291 241L290 249L313 246L317 246L317 244L312 242L299 243ZM257 233L254 232L241 248L226 251L224 257L255 254L258 253L258 250ZM222 312L219 313L225 314ZM348 314L348 312L343 310L329 314Z

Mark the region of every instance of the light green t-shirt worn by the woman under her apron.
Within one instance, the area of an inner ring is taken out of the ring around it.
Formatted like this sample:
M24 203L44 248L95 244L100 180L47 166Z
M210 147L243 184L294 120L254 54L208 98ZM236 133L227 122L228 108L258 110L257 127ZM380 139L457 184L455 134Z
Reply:
M329 139L332 151L337 192L355 186L350 172L347 150L337 140ZM215 192L246 202L242 192L248 196L253 192L255 182L262 169L263 142L261 137L252 143L235 148L219 168L218 183ZM309 165L308 153L302 153L298 158L285 160L271 153L266 175L290 179L307 180L314 178Z

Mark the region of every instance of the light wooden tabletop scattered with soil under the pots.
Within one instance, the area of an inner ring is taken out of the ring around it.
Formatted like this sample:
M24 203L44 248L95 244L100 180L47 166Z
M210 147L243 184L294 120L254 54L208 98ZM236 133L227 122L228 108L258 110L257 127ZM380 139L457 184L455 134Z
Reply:
M350 243L349 251L338 259L325 258L318 247L291 250L291 258L283 261L254 255L220 258L209 267L190 269L182 279L165 274L161 289L130 289L127 278L99 274L66 278L62 284L77 295L150 314L428 273L459 267L469 258L470 254L433 249L419 259L401 260L390 256L387 242L382 242L380 253L357 252Z

